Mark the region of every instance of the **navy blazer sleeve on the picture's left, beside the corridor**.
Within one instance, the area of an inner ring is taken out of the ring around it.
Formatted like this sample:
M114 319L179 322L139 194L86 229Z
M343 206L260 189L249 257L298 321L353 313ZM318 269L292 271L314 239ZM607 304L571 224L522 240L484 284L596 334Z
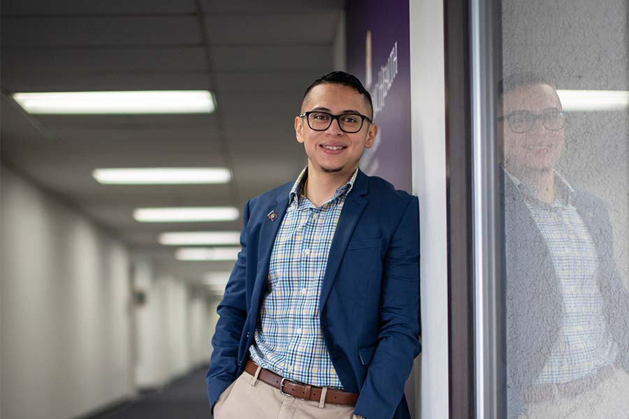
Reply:
M205 376L208 385L210 406L233 381L238 378L238 346L247 318L247 299L245 291L247 223L249 222L250 202L243 210L243 231L240 233L240 252L225 288L223 300L217 308L219 320L212 337L212 357L210 369Z

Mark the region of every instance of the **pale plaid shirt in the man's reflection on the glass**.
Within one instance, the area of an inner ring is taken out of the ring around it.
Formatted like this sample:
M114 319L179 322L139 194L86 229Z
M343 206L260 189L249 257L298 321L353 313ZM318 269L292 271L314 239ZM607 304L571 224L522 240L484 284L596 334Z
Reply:
M528 186L509 176L544 237L563 298L561 330L537 384L584 378L612 365L618 352L603 313L592 237L573 205L574 189L561 175L556 173L558 193L551 204L538 200Z

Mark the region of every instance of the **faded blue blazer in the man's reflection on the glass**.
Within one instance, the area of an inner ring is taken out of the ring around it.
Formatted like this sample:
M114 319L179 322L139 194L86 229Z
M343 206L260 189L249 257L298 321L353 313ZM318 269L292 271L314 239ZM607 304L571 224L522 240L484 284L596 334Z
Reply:
M511 179L505 179L505 259L507 309L508 417L523 413L522 392L542 372L562 321L561 290L550 251ZM576 191L574 207L598 255L598 287L612 338L619 345L619 367L629 371L629 295L614 262L612 226L599 198Z

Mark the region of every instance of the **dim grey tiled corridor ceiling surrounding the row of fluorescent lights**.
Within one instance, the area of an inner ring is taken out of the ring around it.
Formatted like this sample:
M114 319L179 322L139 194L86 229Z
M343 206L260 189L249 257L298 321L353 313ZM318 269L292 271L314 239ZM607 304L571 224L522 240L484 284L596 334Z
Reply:
M139 206L236 205L305 164L293 119L303 89L333 69L345 1L2 0L1 159L187 279L226 263L182 263L168 230L241 222L140 224ZM211 115L31 116L15 91L209 89ZM226 166L227 185L103 186L94 168Z

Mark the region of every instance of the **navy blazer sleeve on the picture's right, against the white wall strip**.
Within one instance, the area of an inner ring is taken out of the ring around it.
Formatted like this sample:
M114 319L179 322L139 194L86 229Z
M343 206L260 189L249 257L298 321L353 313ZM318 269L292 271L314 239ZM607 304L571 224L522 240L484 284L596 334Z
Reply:
M384 256L378 345L354 412L391 419L419 354L419 202L413 196Z

